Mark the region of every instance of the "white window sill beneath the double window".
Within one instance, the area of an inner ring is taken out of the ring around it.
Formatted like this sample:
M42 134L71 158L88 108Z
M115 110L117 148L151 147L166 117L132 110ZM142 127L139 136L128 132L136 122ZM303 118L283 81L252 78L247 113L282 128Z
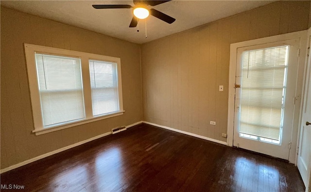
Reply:
M89 123L89 122L96 122L96 121L99 121L99 120L108 119L108 118L111 118L111 117L116 117L116 116L119 116L119 115L123 115L124 112L125 111L122 110L122 111L108 113L108 114L105 114L103 116L97 116L97 117L93 117L93 118L89 118L89 119L78 120L76 122L70 122L70 123L66 123L66 124L62 124L62 125L56 125L56 126L47 127L47 128L35 129L35 130L33 130L33 133L35 133L35 135L42 135L42 134L45 134L45 133L50 133L50 132L53 132L53 131L58 131L58 130L61 130L61 129L66 129L66 128L77 126L77 125L81 125L81 124L86 124L86 123Z

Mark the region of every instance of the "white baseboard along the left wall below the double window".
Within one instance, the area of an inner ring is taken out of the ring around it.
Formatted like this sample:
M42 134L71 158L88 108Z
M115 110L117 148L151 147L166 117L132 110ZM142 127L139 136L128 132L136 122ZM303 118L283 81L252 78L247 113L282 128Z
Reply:
M129 128L129 127L138 125L138 124L140 124L140 123L142 123L142 121L140 121L140 122L135 122L135 123L130 124L130 125L127 125L127 126L125 126L125 127L126 127L126 128ZM4 172L10 171L10 170L12 170L12 169L16 169L17 167L21 167L21 166L23 166L23 165L27 165L27 164L29 164L29 163L32 163L32 162L36 161L36 160L39 160L39 159L42 159L42 158L45 158L45 157L52 156L52 155L57 154L57 153L59 153L59 152L62 152L62 151L65 151L65 150L67 150L67 149L70 149L70 148L73 148L73 147L82 145L82 144L87 143L87 142L92 141L92 140L97 140L97 139L99 139L99 138L105 137L105 136L110 135L110 134L111 134L111 131L110 131L110 132L107 132L107 133L104 133L104 134L101 134L101 135L98 135L98 136L95 136L95 137L90 138L90 139L87 139L87 140L83 140L83 141L74 143L74 144L72 144L72 145L68 145L68 146L66 146L66 147L57 149L57 150L55 150L55 151L51 151L51 152L49 152L49 153L46 153L46 154L43 154L43 155L40 155L40 156L31 158L31 159L28 159L28 160L25 160L25 161L23 161L23 162L20 162L20 163L15 164L15 165L11 165L10 167L6 167L6 168L4 168L4 169L1 169L1 170L0 170L0 173L2 174L2 173L4 173Z

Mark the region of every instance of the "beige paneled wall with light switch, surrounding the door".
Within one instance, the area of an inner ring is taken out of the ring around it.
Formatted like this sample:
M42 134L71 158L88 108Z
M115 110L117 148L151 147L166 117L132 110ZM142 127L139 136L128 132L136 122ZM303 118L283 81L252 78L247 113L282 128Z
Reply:
M279 1L143 44L144 121L226 141L230 44L305 30L309 8Z

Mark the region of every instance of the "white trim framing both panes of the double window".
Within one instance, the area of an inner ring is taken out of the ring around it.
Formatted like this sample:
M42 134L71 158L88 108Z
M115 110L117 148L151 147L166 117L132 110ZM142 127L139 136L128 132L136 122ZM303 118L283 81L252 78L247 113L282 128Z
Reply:
M33 118L34 118L34 127L33 133L35 135L41 135L44 133L49 133L52 131L57 131L88 122L99 121L115 116L122 115L125 111L123 110L123 99L122 99L122 81L121 81L121 59L118 57L110 57L99 54L92 54L86 52L76 52L58 48L44 47L39 45L24 44L25 55L26 55L26 65L28 72L28 81L30 88L31 103L33 109ZM69 57L78 57L81 59L81 70L82 70L82 81L83 81L83 94L84 94L84 105L86 118L83 120L77 120L73 122L60 123L52 126L43 126L42 115L41 115L41 102L39 94L39 86L37 81L37 71L35 64L35 52L39 53L48 53L60 56L69 56ZM90 87L90 75L89 75L89 63L88 60L99 60L117 63L118 71L118 92L119 92L119 111L107 113L104 115L94 116L92 111L92 95Z

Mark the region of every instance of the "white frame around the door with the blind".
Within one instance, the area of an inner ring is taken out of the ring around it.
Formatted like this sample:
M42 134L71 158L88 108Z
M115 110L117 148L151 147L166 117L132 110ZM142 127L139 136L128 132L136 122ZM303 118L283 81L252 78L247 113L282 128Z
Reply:
M229 87L228 87L228 124L227 124L227 145L233 146L233 132L234 132L234 111L235 111L235 79L236 79L236 66L237 66L237 51L238 48L248 47L253 45L262 45L267 43L273 43L284 40L291 40L299 38L299 49L300 52L298 58L298 74L296 79L296 90L295 90L295 102L294 106L294 119L293 119L293 129L291 135L291 149L289 161L291 163L297 163L297 139L298 139L298 130L300 127L300 107L301 107L301 93L303 85L303 71L305 68L305 56L306 56L306 47L307 47L307 32L308 30L298 31L288 34L275 35L270 37L264 37L249 41L243 41L239 43L233 43L230 45L230 64L229 64Z

